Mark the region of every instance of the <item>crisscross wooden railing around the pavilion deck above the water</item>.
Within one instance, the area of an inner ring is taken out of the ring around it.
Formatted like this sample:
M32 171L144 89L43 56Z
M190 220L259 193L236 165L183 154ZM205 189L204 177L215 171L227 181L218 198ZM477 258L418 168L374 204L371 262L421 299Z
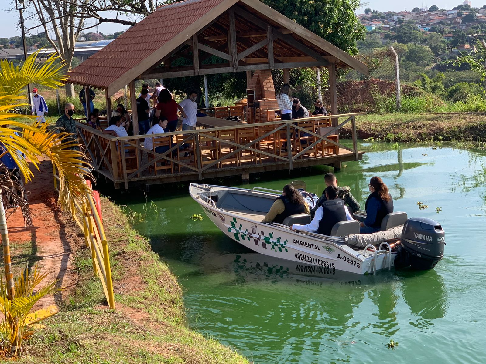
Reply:
M172 139L171 145L165 143L168 150L162 153L143 147L146 135L113 137L79 123L77 131L93 169L116 186L123 183L128 188L128 182L177 173L190 173L202 180L209 171L222 168L287 163L292 169L297 160L339 154L339 149L351 151L358 160L355 117L364 114L333 115L333 120L344 119L335 126L331 126L329 117L314 116L151 135L155 142L167 141L165 137ZM341 144L338 137L339 129L348 122L351 122L352 148ZM168 168L157 168L157 165Z

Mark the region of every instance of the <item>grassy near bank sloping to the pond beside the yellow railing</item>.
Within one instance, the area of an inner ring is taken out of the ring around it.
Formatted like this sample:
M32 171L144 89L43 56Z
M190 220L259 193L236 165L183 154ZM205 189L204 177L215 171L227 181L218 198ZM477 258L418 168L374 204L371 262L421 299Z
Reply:
M79 280L59 314L35 333L25 363L248 363L218 341L185 327L182 290L168 266L102 199L116 311L106 308L88 249L76 253Z

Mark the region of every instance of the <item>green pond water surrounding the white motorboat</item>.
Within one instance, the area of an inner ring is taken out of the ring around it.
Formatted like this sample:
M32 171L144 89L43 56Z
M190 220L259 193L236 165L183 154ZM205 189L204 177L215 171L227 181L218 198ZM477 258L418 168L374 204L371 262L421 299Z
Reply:
M186 188L152 186L147 197L160 213L136 228L184 287L188 325L255 363L486 363L486 152L384 143L360 149L363 161L345 163L339 184L364 206L369 179L380 176L395 211L437 220L447 246L434 270L299 274L295 263L227 238L208 217L191 220L204 213ZM304 180L320 195L328 171L263 174L243 187L280 189ZM137 196L116 200L143 211ZM417 201L429 208L419 210ZM388 349L390 339L399 346Z

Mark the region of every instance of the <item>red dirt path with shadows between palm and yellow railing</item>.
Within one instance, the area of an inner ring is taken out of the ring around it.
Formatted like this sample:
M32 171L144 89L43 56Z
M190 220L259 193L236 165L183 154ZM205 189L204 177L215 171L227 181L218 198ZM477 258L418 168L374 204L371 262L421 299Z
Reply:
M83 234L72 222L69 212L62 213L56 206L51 163L43 161L39 169L34 170L34 179L26 185L26 190L30 191L33 226L24 227L20 210L7 219L12 253L15 252L16 243L31 242L36 248L37 259L40 259L37 262L39 270L48 273L45 282L58 280L57 286L65 288L55 297L47 296L39 300L36 309L53 303L59 305L67 296L77 281L73 252L85 246Z

